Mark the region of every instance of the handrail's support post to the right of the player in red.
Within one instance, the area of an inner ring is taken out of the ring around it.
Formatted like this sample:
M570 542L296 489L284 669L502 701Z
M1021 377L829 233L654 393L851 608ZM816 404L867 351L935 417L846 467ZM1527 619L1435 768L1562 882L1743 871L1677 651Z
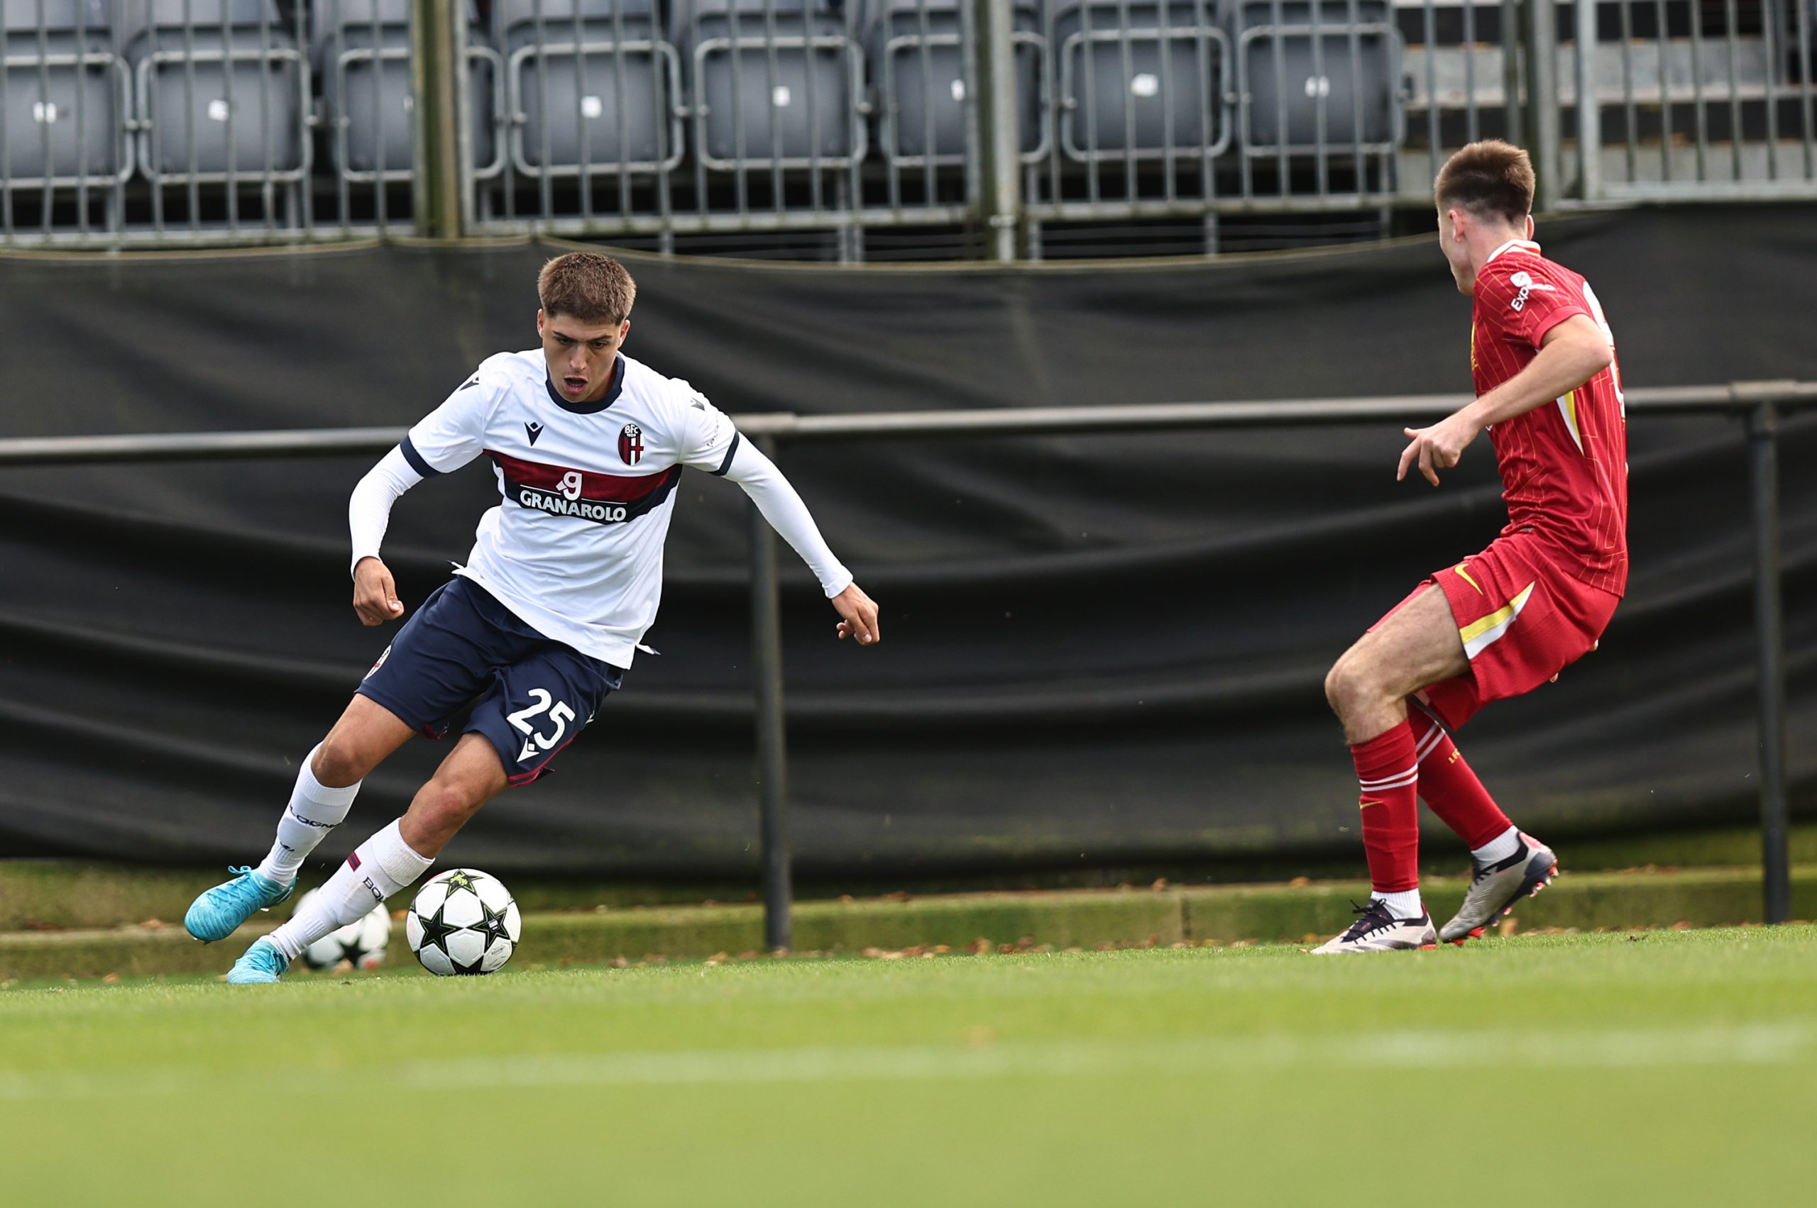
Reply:
M1761 383L1766 385L1766 383ZM1761 385L1737 385L1737 398ZM1779 411L1759 398L1748 412L1748 485L1753 496L1753 634L1761 710L1761 881L1766 921L1792 917L1786 852L1786 630L1779 592Z

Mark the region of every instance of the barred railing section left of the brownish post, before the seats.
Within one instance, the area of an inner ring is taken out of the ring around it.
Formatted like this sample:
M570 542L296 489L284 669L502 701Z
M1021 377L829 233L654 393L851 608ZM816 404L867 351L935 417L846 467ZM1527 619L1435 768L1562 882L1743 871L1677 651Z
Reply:
M0 245L414 229L411 0L9 0Z

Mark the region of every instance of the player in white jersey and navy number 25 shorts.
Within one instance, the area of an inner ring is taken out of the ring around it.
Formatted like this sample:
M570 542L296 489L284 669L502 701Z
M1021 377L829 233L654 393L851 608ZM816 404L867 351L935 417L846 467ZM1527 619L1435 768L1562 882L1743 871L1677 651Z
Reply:
M349 501L352 607L403 616L380 541L405 490L474 458L503 500L472 554L398 632L296 776L271 852L204 892L184 926L225 939L289 897L303 857L360 781L412 734L440 738L478 698L454 748L403 817L371 836L296 916L247 948L229 983L276 981L296 956L414 883L507 785L529 785L592 721L630 667L661 596L663 538L681 467L720 474L819 578L839 638L876 643L878 605L827 549L801 496L705 396L625 356L636 283L571 252L536 282L541 349L489 358L360 480Z

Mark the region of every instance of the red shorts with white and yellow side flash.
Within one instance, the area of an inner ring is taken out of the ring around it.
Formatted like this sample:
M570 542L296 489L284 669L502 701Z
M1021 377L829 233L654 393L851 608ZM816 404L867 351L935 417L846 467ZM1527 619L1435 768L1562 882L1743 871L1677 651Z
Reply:
M1621 603L1621 596L1563 570L1530 532L1499 538L1481 554L1434 572L1406 599L1432 583L1445 592L1470 659L1466 674L1423 694L1452 730L1490 701L1532 692L1590 654Z

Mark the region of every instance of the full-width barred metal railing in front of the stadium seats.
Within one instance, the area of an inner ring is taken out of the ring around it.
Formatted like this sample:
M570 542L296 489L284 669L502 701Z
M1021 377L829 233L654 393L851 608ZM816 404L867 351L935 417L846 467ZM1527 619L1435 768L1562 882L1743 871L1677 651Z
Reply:
M1214 252L1221 216L1370 214L1386 231L1381 216L1430 205L1445 156L1481 136L1528 145L1543 209L1817 198L1810 0L5 13L13 247L414 231L1041 258L1081 231L1172 222L1199 223L1187 249Z

